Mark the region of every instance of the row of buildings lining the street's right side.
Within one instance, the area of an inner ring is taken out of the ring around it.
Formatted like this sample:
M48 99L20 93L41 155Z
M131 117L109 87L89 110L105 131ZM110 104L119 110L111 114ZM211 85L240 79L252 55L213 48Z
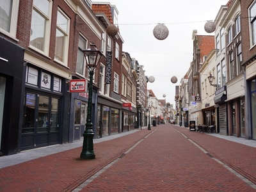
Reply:
M220 7L214 35L193 31L193 61L175 96L183 125L256 140L255 23L256 1L233 0Z

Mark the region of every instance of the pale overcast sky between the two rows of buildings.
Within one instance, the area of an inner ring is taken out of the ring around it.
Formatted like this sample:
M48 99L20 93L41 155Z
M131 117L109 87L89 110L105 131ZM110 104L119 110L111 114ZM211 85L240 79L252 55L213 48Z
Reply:
M104 0L103 0L104 1ZM95 1L102 2L102 1ZM154 76L155 82L148 83L157 99L174 104L175 85L188 72L193 59L192 32L198 35L214 35L204 30L207 20L214 20L221 5L228 0L111 0L106 1L118 9L118 26L124 39L123 51L144 66L146 76ZM157 40L153 29L164 24L169 35ZM176 76L178 82L170 79Z

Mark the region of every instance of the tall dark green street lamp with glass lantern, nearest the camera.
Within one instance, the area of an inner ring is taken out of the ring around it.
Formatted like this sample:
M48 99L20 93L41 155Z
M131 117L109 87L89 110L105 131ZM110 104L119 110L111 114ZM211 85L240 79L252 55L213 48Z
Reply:
M94 70L97 67L100 57L102 56L101 52L97 49L95 44L90 45L90 49L82 50L86 58L86 67L88 68L90 74L90 83L89 83L89 98L88 98L88 107L87 107L87 118L85 124L85 130L83 133L83 150L81 152L81 159L95 159L95 152L93 150L93 130L92 130L92 90L93 90L93 74Z

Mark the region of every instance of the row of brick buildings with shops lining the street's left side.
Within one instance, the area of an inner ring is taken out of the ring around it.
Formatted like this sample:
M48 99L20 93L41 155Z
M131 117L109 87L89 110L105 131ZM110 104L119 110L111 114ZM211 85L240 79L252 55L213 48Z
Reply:
M70 81L90 80L83 50L92 43L103 55L93 77L94 138L148 124L148 77L122 50L120 31L107 33L117 24L110 3L0 1L0 155L81 140L88 92L71 93Z

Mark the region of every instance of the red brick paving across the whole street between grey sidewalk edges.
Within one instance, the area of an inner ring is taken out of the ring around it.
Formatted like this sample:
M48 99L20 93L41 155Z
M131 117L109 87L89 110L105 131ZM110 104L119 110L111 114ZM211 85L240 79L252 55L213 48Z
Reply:
M256 191L256 148L165 124L0 169L0 191ZM13 155L15 157L15 155ZM0 157L1 161L1 157Z

